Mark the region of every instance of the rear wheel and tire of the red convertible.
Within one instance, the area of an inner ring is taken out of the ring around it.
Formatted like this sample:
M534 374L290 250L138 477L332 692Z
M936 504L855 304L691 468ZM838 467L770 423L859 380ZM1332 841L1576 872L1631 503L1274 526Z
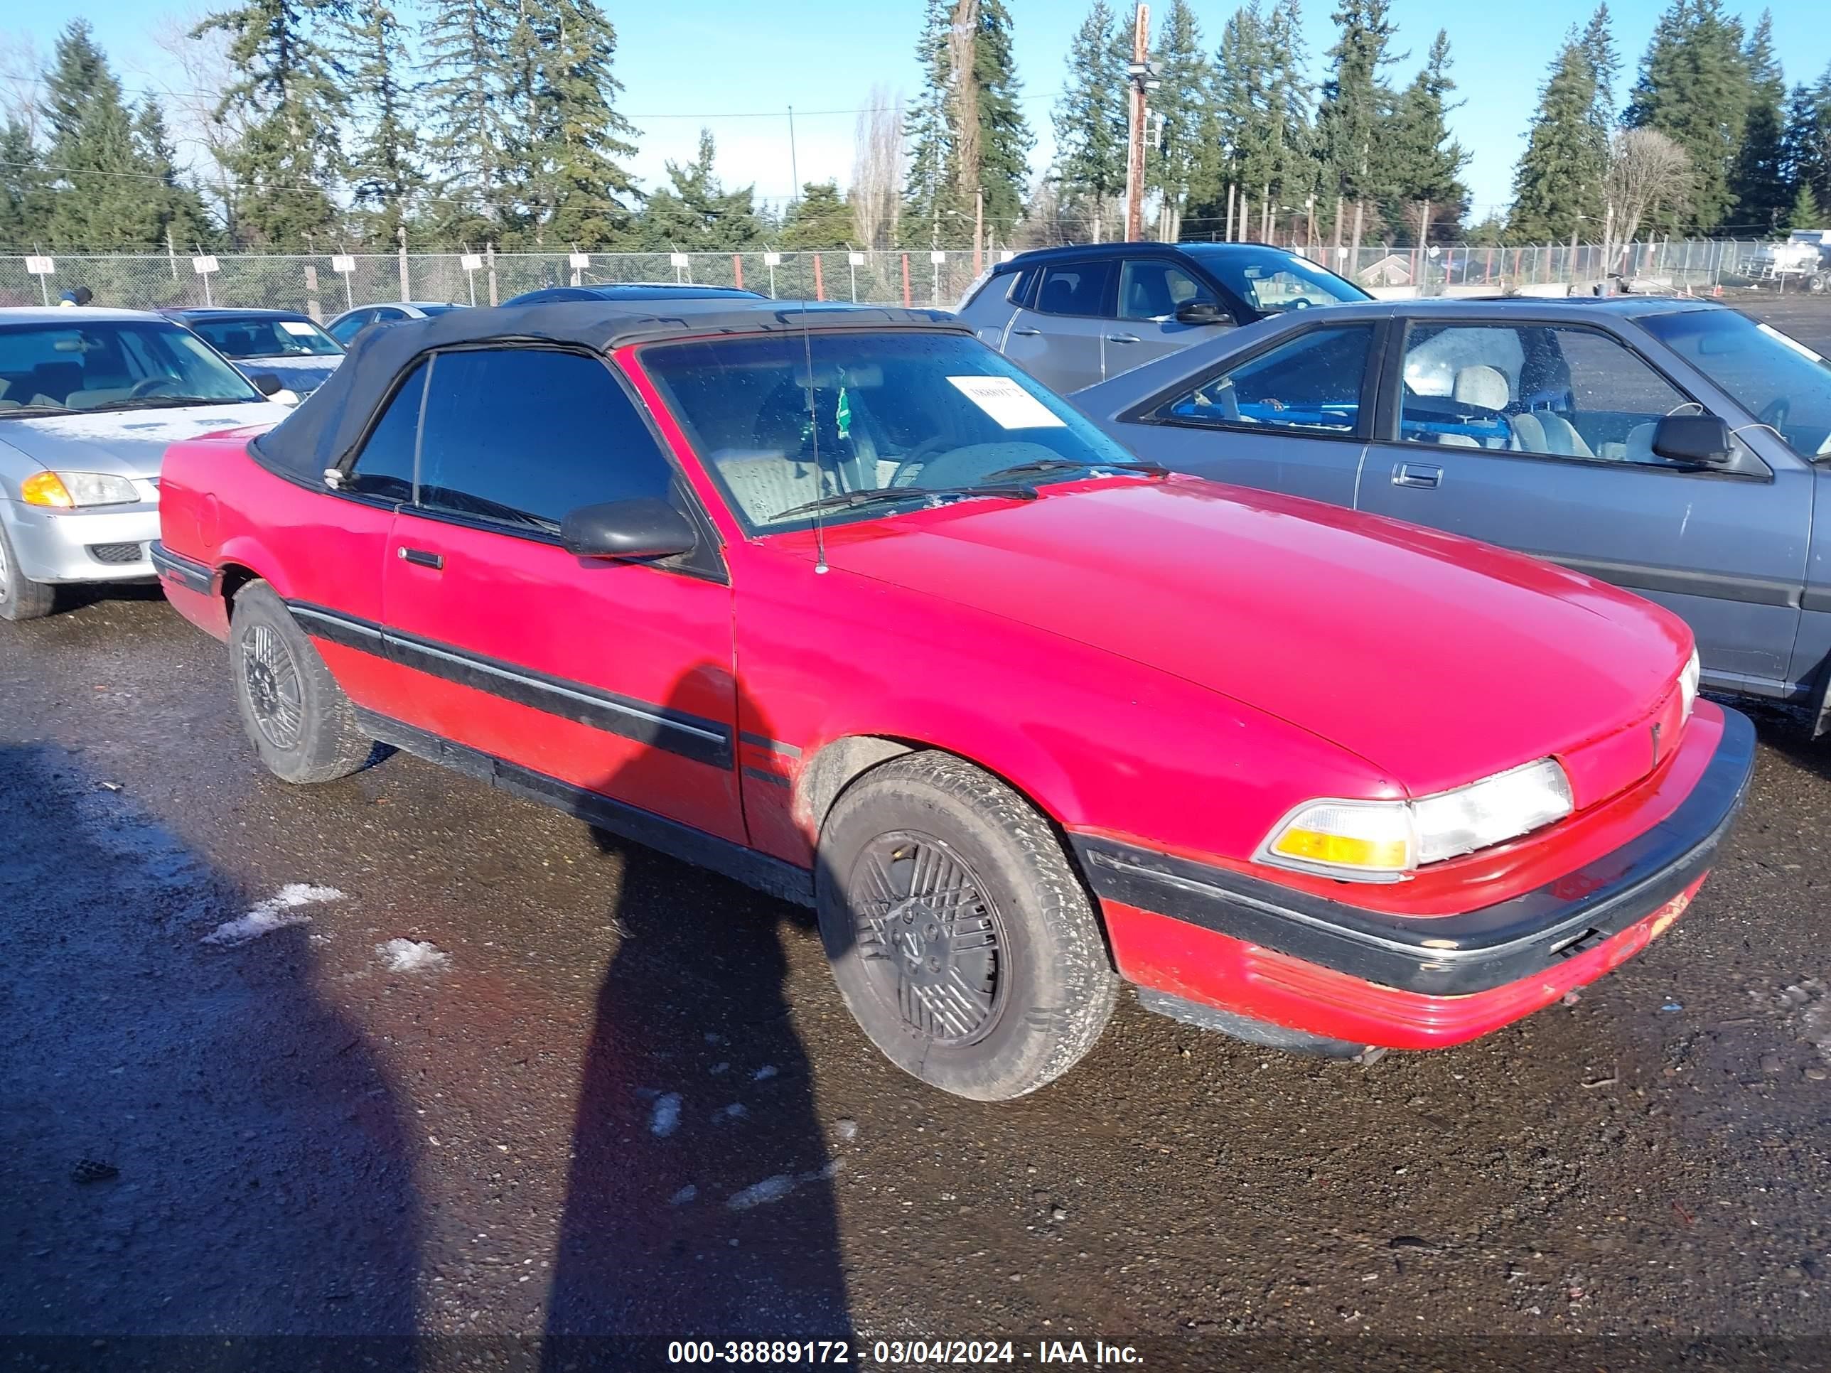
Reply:
M372 752L355 708L286 602L249 582L229 615L229 676L249 741L282 782L350 776Z

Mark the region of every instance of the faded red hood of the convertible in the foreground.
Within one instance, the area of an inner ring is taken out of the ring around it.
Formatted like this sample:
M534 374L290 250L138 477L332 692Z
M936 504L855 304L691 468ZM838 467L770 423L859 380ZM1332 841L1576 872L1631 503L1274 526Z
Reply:
M844 525L828 560L1221 692L1412 795L1644 721L1692 646L1580 573L1192 478Z

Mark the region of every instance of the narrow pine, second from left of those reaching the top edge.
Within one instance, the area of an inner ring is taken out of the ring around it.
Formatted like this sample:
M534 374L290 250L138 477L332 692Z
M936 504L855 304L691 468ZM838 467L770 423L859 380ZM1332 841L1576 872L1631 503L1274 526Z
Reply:
M405 84L406 40L394 11L379 0L344 20L344 66L350 93L361 106L361 130L350 150L350 187L363 238L392 249L427 189L419 163L414 92Z

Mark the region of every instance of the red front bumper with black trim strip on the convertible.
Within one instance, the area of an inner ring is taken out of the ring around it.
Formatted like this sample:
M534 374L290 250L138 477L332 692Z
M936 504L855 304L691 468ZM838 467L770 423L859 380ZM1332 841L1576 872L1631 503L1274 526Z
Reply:
M1075 835L1121 972L1197 1005L1395 1049L1457 1043L1600 978L1677 919L1741 807L1754 727L1721 712L1690 793L1571 873L1461 915L1390 915Z

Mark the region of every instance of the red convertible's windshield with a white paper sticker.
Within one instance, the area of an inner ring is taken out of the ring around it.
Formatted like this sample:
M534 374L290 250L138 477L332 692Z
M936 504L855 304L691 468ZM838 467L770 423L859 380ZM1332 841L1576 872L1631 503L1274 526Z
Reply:
M802 527L817 500L829 518L872 518L1135 461L958 333L655 344L643 366L753 531Z

